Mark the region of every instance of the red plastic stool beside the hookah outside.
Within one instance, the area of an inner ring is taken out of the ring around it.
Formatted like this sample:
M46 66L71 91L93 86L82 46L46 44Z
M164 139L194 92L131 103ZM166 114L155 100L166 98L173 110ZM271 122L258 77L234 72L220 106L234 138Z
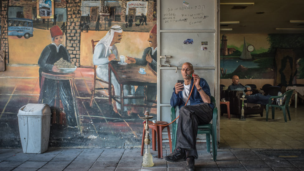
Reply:
M165 121L156 121L156 124L158 125L167 125L168 122ZM149 122L149 129L152 129L152 150L156 151L156 135L155 133L157 133L157 150L158 150L158 158L163 158L163 136L162 136L162 132L163 129L167 127L168 130L168 137L169 137L169 145L170 145L170 152L172 153L172 142L171 142L171 134L170 134L170 128L169 125L168 126L157 126L154 125L153 123ZM144 126L144 131L143 131L143 138L141 141L141 156L144 155L144 140L145 140L145 134L146 134L146 130L145 130L145 126Z

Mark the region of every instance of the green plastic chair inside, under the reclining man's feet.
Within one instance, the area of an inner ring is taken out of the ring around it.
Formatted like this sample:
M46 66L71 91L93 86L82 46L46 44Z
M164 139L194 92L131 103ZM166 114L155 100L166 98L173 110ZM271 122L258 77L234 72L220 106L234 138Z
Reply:
M269 107L271 107L271 110L272 110L272 119L274 119L274 108L278 107L278 108L282 109L282 111L283 111L285 122L287 122L287 119L286 119L286 109L287 109L289 121L291 121L290 112L289 112L289 101L292 96L292 93L293 93L293 90L289 90L289 91L285 92L282 96L272 96L269 98L268 104L266 105L266 121L268 121L268 108ZM273 98L276 99L276 98L283 97L285 95L286 95L286 97L285 97L286 101L282 106L271 104Z

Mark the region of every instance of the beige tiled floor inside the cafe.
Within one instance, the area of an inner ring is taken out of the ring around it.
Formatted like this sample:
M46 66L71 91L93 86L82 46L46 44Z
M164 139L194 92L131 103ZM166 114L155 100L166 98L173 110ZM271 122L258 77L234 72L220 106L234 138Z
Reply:
M270 149L304 149L304 106L294 103L289 107L291 121L284 122L283 112L275 109L272 119L269 108L268 121L266 111L260 115L246 116L240 121L238 116L227 114L221 116L220 147L225 148L270 148Z

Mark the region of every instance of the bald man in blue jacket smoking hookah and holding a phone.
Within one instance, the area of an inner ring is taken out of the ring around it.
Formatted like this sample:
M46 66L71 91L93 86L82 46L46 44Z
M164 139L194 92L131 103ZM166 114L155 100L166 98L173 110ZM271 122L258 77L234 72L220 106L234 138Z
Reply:
M181 71L184 84L175 84L170 101L171 106L179 107L177 145L173 153L164 159L170 162L186 160L186 170L194 171L194 159L198 158L197 127L198 124L207 124L211 121L215 105L211 103L211 93L207 81L194 74L192 64L184 63ZM191 74L193 74L193 78L188 76ZM189 95L192 87L193 92ZM187 105L185 105L186 103Z

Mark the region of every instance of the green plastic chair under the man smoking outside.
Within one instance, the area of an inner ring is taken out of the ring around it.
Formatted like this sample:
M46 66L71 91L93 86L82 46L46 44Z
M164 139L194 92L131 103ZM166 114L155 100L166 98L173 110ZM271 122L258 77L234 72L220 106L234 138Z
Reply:
M216 104L215 98L211 96L211 102ZM175 109L176 107L171 108L171 121L174 121L175 117ZM215 106L213 109L213 117L212 124L202 124L198 125L197 134L206 134L206 144L207 144L207 152L210 153L210 135L212 136L212 154L213 161L216 161L217 155L217 137L216 137L216 122L217 122L217 107ZM172 123L172 151L174 151L176 147L176 131L177 131L177 123L174 121Z

